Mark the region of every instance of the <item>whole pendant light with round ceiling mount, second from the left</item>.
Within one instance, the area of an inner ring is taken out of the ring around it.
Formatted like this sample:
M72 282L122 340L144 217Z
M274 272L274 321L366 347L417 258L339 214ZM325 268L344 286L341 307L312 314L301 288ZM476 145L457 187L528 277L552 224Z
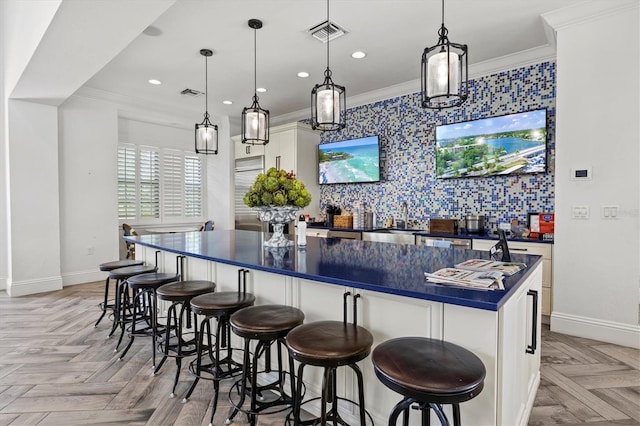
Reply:
M253 28L253 103L242 110L242 143L266 145L269 143L269 111L260 108L258 103L256 33L262 28L262 21L249 19L249 28Z

